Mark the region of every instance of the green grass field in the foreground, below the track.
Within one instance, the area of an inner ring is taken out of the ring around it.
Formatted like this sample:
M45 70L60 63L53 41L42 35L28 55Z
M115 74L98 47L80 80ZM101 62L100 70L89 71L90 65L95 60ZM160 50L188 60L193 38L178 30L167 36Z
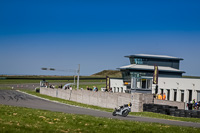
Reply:
M0 105L1 133L199 133L198 128L122 121Z

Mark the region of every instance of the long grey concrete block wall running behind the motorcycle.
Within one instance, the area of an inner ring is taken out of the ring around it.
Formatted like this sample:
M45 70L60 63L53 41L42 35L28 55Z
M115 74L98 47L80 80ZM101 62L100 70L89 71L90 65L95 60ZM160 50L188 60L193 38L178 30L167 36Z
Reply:
M65 100L71 100L83 104L100 106L104 108L117 108L123 104L132 103L132 112L142 112L144 103L153 103L152 94L142 93L110 93L94 92L88 90L62 90L51 88L40 88L40 93Z

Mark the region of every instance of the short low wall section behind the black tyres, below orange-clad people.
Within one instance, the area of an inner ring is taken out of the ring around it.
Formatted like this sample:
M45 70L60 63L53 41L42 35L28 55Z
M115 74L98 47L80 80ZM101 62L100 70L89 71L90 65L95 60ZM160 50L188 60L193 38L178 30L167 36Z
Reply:
M154 104L177 106L178 109L185 109L185 103L184 102L175 102L175 101L154 99Z

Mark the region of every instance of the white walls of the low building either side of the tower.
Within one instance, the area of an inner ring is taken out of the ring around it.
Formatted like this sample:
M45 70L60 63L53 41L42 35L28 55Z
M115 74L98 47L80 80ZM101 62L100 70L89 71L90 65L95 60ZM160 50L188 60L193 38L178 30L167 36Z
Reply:
M113 92L123 92L127 89L123 84L122 79L110 79L110 87ZM119 88L119 91L118 91ZM152 85L152 93L155 93L156 85ZM192 90L192 99L197 101L197 91L200 91L200 79L190 78L163 78L158 79L158 93L161 93L161 89L166 94L167 90L170 90L170 101L174 101L174 90L177 91L176 101L181 101L181 90L184 91L184 102L188 103L189 90ZM167 99L167 98L166 98Z

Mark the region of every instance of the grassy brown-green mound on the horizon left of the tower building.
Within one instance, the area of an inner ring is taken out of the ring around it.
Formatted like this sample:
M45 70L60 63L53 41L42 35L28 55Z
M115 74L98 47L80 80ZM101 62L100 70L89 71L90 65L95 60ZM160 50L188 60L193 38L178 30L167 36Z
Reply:
M95 77L105 77L105 76L109 76L109 77L116 77L116 78L121 78L122 74L119 70L103 70L101 72L95 73L91 76L95 76Z

